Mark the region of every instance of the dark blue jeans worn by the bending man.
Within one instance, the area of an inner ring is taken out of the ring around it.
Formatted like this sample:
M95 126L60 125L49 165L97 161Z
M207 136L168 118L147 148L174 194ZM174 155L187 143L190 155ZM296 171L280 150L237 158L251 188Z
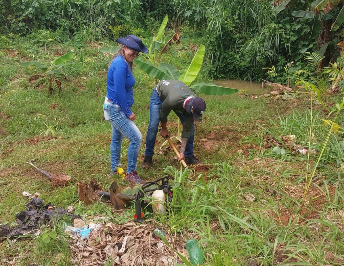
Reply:
M151 99L150 99L150 106L149 106L149 125L147 130L146 136L146 150L144 151L144 155L146 156L153 156L154 155L154 146L155 146L155 139L157 138L157 132L160 122L160 109L161 109L162 101L159 98L159 94L153 89ZM181 114L176 114L181 123L183 124L185 121L185 116ZM193 156L193 140L195 134L195 124L192 125L191 135L189 141L187 141L185 153L185 158Z

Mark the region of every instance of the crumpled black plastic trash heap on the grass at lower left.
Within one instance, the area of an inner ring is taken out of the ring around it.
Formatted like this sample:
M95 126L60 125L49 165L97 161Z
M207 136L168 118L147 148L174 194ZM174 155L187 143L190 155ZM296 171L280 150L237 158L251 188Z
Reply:
M10 228L8 224L4 225L0 229L1 238L39 234L41 225L49 223L53 218L58 219L67 212L63 208L55 208L51 203L43 206L43 200L40 198L32 198L25 206L25 211L21 211L16 215L19 225L13 228ZM72 215L71 217L73 220L77 216Z

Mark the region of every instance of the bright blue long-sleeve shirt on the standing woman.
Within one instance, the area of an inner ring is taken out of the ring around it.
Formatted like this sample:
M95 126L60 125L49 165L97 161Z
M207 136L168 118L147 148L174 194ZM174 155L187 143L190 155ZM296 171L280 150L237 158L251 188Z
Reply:
M130 108L134 103L132 89L134 84L135 78L130 66L121 55L117 56L112 60L108 70L106 96L121 107L126 117L132 114Z

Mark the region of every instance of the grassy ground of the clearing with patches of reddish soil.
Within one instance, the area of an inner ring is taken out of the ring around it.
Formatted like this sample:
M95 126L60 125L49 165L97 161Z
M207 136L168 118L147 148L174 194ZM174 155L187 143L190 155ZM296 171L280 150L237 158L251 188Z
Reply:
M0 223L15 224L15 214L27 202L22 196L24 190L41 193L44 203L62 208L73 205L75 213L83 217L101 214L106 221L131 221L133 207L120 216L102 203L84 206L77 196L79 181L95 179L105 190L113 181L107 175L111 128L101 108L110 57L97 52L99 44L85 44L66 69L69 78L62 82L61 94L49 95L44 86L32 88L27 78L35 70L20 67L19 62L32 60L32 53L49 58L67 48L55 44L42 51L27 42L15 42L11 42L11 49L18 51L18 56L11 56L6 45L0 50L5 55L0 57ZM165 54L166 61L174 64L180 58L192 58L187 51L189 46L189 42L181 42L178 49L172 48ZM184 68L183 63L180 68ZM138 68L134 75L137 83L132 110L145 138L154 79ZM338 98L327 100L336 103ZM200 240L204 265L341 265L344 172L338 156L342 133L330 139L331 151L325 153L324 162L314 175L308 205L296 222L293 214L297 214L301 204L307 160L289 152L278 156L271 148L264 148L264 140L268 132L276 140L281 135L295 134L300 143L306 142L309 98L297 97L296 103L240 95L204 99L207 109L203 121L196 124L194 150L196 157L206 163L205 168L184 170L175 159L170 159L175 156L173 151L160 155L158 149L164 140L158 136L153 168L144 170L140 166L144 143L140 149L138 173L144 181L166 173L172 177L174 198L170 215L168 219L159 215L154 218L182 240ZM313 115L327 119L321 108ZM338 123L342 123L339 119ZM172 136L177 133L176 123L176 116L171 114L168 127ZM44 136L49 128L56 136ZM314 146L321 147L326 131L322 127L317 130L312 138ZM128 140L123 141L123 169L128 145ZM27 163L29 160L50 173L68 174L71 184L53 188L46 177ZM128 185L126 180L117 181L120 187ZM250 195L255 197L253 202ZM69 265L71 253L63 222L56 221L42 230L44 236L0 242L4 254L1 265L13 259L19 266ZM49 243L45 243L47 237Z

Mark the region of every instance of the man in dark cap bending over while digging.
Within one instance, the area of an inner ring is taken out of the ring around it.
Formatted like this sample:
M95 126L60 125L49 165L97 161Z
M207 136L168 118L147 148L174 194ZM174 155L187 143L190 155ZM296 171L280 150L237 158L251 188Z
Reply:
M201 121L205 110L205 102L200 97L195 97L191 89L183 82L177 80L162 80L153 89L150 98L149 126L146 136L146 150L142 162L143 168L153 164L155 139L157 137L159 122L161 122L160 136L169 135L166 123L171 110L179 117L182 125L182 144L180 158L186 164L201 164L193 154L194 121Z

